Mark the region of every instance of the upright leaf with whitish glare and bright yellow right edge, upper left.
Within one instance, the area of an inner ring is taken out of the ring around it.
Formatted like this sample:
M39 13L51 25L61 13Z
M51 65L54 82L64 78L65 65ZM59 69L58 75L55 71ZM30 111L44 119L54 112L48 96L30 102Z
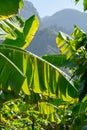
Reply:
M1 29L7 33L3 44L17 46L22 49L28 47L38 29L38 18L33 15L25 22L19 17L10 18L0 23Z

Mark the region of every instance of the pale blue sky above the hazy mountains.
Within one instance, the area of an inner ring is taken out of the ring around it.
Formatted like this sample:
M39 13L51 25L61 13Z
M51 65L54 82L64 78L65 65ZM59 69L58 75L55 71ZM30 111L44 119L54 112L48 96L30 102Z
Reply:
M75 5L74 0L28 0L33 3L41 17L50 16L65 8L83 11L82 0Z

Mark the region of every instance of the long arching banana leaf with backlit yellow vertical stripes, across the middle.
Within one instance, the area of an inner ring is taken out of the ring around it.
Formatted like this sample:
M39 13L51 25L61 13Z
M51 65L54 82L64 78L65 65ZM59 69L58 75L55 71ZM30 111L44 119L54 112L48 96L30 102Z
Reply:
M23 91L26 92L28 87L29 91L58 96L58 98L66 98L67 100L70 97L77 97L77 89L70 77L52 64L34 54L8 45L0 45L0 52L26 75L27 78L22 87ZM20 77L17 78L20 79Z

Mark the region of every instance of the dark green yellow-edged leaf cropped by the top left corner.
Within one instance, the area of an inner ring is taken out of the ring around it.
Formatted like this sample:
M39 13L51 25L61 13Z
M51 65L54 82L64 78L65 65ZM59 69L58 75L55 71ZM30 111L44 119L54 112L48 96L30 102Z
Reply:
M0 20L17 14L22 6L22 0L0 0Z

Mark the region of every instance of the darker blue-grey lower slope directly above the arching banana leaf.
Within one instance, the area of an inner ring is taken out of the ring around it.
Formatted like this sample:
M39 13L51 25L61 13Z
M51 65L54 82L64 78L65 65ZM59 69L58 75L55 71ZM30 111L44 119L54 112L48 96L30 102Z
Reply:
M59 53L58 48L56 48L57 32L51 29L39 30L33 41L31 42L28 50L41 56L44 54Z

